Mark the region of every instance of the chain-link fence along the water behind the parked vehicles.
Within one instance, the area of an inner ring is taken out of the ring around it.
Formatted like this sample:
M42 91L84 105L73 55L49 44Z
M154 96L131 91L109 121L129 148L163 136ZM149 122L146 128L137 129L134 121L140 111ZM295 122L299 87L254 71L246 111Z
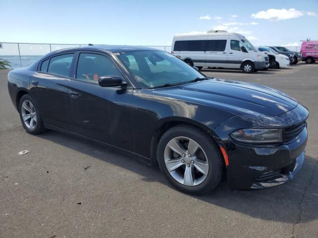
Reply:
M20 68L29 66L35 60L46 55L49 52L81 47L87 45L81 44L31 44L31 43L9 43L3 42L0 47L0 59L8 60L11 68ZM171 52L171 46L144 46L156 48L159 50ZM300 51L300 46L287 47L291 51Z

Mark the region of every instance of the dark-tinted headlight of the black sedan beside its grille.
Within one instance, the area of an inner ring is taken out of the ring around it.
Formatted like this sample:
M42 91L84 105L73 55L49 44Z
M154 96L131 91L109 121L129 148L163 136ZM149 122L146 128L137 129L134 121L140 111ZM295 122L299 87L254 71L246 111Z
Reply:
M279 143L283 142L282 129L239 129L231 137L243 143Z

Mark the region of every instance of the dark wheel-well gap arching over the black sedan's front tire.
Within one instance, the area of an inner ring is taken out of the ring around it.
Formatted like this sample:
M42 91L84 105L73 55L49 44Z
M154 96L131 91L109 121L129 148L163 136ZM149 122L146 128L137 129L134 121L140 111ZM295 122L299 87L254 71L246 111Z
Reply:
M195 126L197 128L202 129L200 126L194 125L194 124L189 123L189 122L184 122L184 121L167 121L167 122L160 124L156 128L155 132L153 133L151 144L150 144L150 153L151 153L150 156L151 156L151 163L153 165L158 164L158 162L157 162L157 147L158 147L158 143L159 143L161 136L168 129L172 128L173 126L179 125L179 124L187 124L187 125ZM204 129L202 129L202 130L204 130ZM204 130L204 131L206 131L206 130Z

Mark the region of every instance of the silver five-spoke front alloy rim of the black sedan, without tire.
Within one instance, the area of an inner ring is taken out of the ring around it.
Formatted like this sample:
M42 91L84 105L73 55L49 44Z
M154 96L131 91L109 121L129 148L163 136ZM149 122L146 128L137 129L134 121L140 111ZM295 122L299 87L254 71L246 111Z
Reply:
M164 163L173 179L186 186L196 186L208 176L209 162L202 147L193 139L178 136L164 149Z

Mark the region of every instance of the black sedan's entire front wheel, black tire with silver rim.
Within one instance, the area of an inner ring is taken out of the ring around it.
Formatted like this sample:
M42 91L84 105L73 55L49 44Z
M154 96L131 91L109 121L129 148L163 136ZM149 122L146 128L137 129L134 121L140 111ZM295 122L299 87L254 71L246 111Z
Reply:
M178 144L174 141L178 141ZM192 149L188 148L190 141L192 147L197 148L194 155L190 154ZM187 124L174 126L162 135L157 158L159 168L168 181L189 194L213 190L220 183L225 168L223 156L214 139L200 128Z

